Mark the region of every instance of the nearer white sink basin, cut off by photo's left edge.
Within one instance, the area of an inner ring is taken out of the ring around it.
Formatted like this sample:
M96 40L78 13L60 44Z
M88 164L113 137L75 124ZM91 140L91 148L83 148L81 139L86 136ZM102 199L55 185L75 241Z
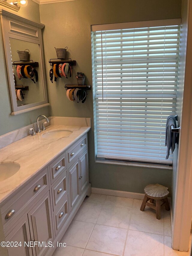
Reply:
M0 181L10 178L20 169L20 164L1 163L0 164Z

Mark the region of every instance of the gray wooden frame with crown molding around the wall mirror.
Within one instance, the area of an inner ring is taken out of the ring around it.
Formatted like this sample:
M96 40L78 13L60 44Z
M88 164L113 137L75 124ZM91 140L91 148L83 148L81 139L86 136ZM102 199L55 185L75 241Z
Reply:
M43 29L45 25L42 23L36 23L34 21L27 20L24 17L10 13L3 9L0 10L0 19L1 19L6 67L7 67L7 77L8 77L9 90L10 90L10 99L11 99L11 106L12 106L11 115L18 115L18 114L35 110L41 107L49 106L50 104L48 103L48 98L47 98L44 52L43 52L42 33L41 33L41 29ZM27 104L24 106L17 106L9 38L15 38L15 39L20 39L23 41L39 44L41 74L42 74L42 82L43 82L43 89L44 89L44 101Z

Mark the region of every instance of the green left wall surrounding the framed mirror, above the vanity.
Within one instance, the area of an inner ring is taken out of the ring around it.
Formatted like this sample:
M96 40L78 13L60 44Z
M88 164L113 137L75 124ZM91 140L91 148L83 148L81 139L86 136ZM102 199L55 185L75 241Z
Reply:
M9 10L8 10L9 11ZM21 7L18 12L14 12L17 15L21 15L30 20L40 23L39 5L28 0L26 7ZM2 32L0 29L0 135L7 132L16 130L25 125L29 125L36 121L36 118L40 114L49 116L49 107L44 107L38 110L33 110L27 113L19 114L17 116L11 116L11 102L9 85L7 80L7 69L4 56L4 47Z

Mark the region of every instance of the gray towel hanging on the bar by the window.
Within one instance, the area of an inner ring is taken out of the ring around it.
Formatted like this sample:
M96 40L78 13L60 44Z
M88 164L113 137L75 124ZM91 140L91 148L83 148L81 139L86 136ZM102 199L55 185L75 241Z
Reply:
M171 132L171 126L173 125L174 128L177 128L176 119L174 116L168 116L166 122L166 135L165 135L165 146L167 146L167 155L166 159L169 158L170 149L173 154L175 150L175 143L176 143L176 133Z

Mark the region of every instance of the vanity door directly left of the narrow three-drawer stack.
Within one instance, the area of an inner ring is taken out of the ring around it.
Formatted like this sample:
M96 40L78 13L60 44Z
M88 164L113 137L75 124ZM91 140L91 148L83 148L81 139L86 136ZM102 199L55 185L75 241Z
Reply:
M37 242L48 242L53 240L53 228L51 218L51 204L49 192L32 208L28 213L29 228L31 232L31 238ZM49 248L46 246L32 247L33 256L44 255L45 251Z

